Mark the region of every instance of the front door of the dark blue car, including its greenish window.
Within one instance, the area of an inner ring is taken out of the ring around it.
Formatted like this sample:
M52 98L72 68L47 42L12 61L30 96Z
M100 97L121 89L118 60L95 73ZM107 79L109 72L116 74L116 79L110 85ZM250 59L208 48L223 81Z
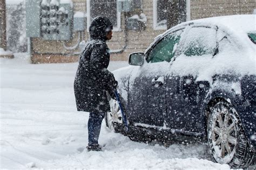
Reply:
M164 126L165 79L176 51L181 30L158 40L145 54L145 62L134 72L129 99L129 119L137 125Z

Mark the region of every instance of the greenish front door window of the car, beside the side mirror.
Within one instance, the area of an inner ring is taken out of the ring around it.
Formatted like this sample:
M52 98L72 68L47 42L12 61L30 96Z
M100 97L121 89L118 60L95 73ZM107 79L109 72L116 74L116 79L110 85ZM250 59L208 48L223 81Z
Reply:
M180 40L180 34L182 30L170 33L165 36L157 45L153 46L152 50L147 53L148 63L157 62L170 62L175 54L177 44Z

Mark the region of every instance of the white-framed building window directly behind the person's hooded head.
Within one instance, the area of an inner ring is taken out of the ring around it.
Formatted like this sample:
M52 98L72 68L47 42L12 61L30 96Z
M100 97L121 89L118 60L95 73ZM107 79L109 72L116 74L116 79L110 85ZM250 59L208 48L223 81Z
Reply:
M113 24L113 31L120 31L121 14L117 11L117 0L90 0L86 1L87 30L93 18L104 16Z

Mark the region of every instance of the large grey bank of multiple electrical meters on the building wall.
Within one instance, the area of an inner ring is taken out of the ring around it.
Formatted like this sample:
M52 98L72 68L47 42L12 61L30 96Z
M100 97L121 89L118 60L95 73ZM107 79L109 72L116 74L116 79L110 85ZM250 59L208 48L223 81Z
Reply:
M26 0L26 16L35 17L27 22L28 37L42 37L45 40L69 40L72 36L72 1ZM27 8L28 6L28 8ZM39 7L38 7L39 6ZM39 25L38 25L39 22ZM30 26L35 25L35 26Z

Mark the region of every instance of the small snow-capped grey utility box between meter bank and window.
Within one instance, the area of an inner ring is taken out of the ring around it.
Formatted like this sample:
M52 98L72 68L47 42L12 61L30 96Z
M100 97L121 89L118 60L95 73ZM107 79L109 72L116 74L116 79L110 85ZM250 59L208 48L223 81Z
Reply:
M76 12L73 18L73 31L84 31L86 28L85 19L86 15L84 12Z

